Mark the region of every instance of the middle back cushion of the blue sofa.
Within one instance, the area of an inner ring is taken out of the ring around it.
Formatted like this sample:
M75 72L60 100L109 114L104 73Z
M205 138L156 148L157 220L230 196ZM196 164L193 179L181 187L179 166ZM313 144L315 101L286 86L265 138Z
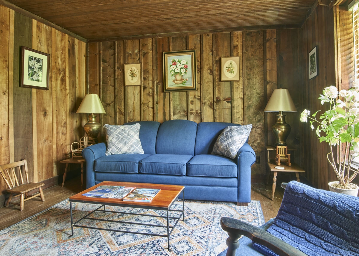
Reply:
M190 120L168 120L160 124L156 153L194 155L197 123Z

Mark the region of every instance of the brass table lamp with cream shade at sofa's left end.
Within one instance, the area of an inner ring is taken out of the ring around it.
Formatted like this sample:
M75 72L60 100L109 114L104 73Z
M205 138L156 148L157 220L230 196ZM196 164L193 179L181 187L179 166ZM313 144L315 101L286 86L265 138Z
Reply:
M84 125L84 130L88 137L93 138L97 142L97 136L101 131L102 125L96 122L95 113L106 114L99 96L97 94L86 94L76 113L89 114L89 120Z

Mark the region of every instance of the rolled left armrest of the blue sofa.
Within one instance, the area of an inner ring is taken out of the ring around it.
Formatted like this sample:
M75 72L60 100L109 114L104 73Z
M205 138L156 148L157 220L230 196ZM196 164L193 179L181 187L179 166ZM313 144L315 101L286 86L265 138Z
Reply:
M82 151L82 156L86 160L86 188L95 185L94 161L106 155L106 144L101 142L86 147Z

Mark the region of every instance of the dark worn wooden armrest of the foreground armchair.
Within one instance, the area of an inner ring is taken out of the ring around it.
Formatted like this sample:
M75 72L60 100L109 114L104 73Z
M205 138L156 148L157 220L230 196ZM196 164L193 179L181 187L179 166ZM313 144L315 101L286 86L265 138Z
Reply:
M239 247L238 239L241 235L250 238L253 242L264 245L280 256L305 256L306 254L289 245L278 237L273 236L262 228L255 227L238 219L222 217L221 227L229 235L227 238L227 255L235 256Z

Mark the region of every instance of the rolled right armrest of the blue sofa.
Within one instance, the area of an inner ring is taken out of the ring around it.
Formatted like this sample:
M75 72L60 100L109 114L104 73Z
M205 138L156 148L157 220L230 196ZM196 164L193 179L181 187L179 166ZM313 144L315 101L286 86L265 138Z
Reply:
M256 153L253 148L244 143L237 152L238 167L238 196L237 203L251 202L251 166L256 161Z

